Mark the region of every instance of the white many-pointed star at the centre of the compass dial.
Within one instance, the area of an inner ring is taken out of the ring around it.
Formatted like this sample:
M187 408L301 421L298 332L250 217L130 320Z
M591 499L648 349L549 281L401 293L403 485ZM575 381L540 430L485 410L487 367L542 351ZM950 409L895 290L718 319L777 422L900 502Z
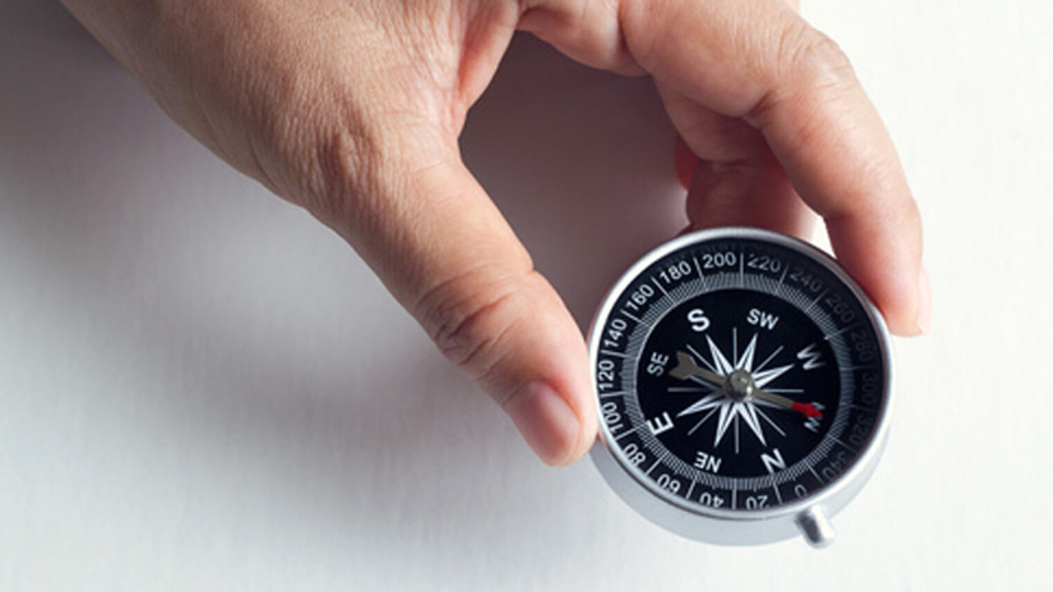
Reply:
M737 330L733 331L734 331L734 339L733 339L734 343L737 342L738 340L737 339L738 334ZM751 398L744 398L744 400L736 400L735 397L729 396L729 394L726 392L724 389L721 388L720 384L711 384L711 382L713 382L712 380L708 381L698 376L698 374L716 375L721 379L720 380L721 383L724 383L727 382L727 378L731 376L733 373L735 373L736 376L744 376L747 380L752 378L752 383L750 384L750 388L759 391L760 389L764 389L769 383L771 383L779 376L782 376L794 367L793 363L788 363L786 366L766 369L768 362L770 362L775 356L779 354L779 352L782 351L782 347L781 346L778 347L774 352L772 352L771 355L768 356L768 358L764 359L764 361L760 362L760 364L758 364L756 369L754 369L753 363L757 352L756 333L753 334L753 337L750 339L749 344L747 344L746 349L742 350L741 355L738 355L738 352L735 351L737 350L737 348L733 346L732 358L734 359L734 362L728 360L728 356L726 356L723 352L720 351L720 348L718 348L717 344L713 342L713 339L710 338L709 335L706 336L706 342L710 350L709 352L710 356L708 358L707 356L700 354L691 344L688 344L687 349L689 352L691 352L691 355L694 356L694 359L690 359L690 356L688 356L687 354L682 354L684 358L688 359L680 360L681 366L684 363L694 366L695 363L697 363L695 360L698 360L699 362L704 364L706 368L709 369L710 371L709 373L706 373L704 371L696 371L696 372L688 371L683 373L682 377L690 378L691 380L698 382L699 384L703 384L706 387L709 387L710 389L713 389L711 393L698 399L697 401L693 402L687 409L677 414L677 417L683 417L686 415L692 415L704 412L702 418L699 419L698 422L695 423L695 426L688 431L688 433L689 434L694 433L696 430L701 428L711 417L716 415L717 416L716 435L714 436L713 439L714 447L719 446L720 441L723 440L724 435L727 435L729 431L731 431L734 434L735 438L735 452L736 453L738 452L739 419L741 419L741 421L746 423L746 426L750 429L750 431L753 432L753 435L756 436L758 440L760 440L761 445L767 446L768 443L764 437L763 423L768 423L769 426L771 426L771 429L775 430L780 435L784 436L786 432L783 432L782 429L779 428L779 426L774 420L772 420L772 418L769 417L768 414L763 412L763 410L760 409L760 404L766 404L771 407L777 407L777 406L773 404L771 401L761 398L751 397ZM674 372L680 370L681 367L678 366L677 369L674 370ZM772 389L769 389L769 391L772 391Z

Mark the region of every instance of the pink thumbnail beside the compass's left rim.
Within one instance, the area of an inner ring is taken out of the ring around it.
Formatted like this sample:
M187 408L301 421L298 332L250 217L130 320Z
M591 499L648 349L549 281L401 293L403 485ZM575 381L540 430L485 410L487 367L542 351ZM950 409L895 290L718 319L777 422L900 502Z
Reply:
M522 387L504 403L504 411L545 465L561 465L574 452L580 429L578 416L544 382Z

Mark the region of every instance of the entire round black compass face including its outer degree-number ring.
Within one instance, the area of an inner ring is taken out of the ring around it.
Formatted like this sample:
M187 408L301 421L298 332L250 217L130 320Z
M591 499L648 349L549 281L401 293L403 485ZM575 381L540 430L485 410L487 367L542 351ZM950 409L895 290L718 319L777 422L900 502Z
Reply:
M815 495L836 480L831 455L847 463L859 454L845 446L856 442L853 423L881 412L862 403L860 382L873 390L882 376L860 371L885 358L858 354L877 351L859 344L873 340L871 317L821 264L730 241L664 254L620 285L592 352L597 374L620 377L597 387L601 406L623 406L619 425L602 417L602 434L611 450L633 451L617 459L636 484L706 508L758 510ZM835 301L851 313L835 314Z

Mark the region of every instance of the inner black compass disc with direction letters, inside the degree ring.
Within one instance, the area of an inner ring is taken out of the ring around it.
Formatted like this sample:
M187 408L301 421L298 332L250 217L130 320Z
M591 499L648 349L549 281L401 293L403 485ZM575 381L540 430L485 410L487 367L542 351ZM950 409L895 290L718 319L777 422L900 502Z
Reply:
M808 316L767 294L689 298L655 324L642 351L648 363L637 369L636 390L653 435L714 474L759 477L797 462L836 416L840 380L830 343ZM693 367L716 376L675 372ZM732 375L741 377L740 394L728 386Z

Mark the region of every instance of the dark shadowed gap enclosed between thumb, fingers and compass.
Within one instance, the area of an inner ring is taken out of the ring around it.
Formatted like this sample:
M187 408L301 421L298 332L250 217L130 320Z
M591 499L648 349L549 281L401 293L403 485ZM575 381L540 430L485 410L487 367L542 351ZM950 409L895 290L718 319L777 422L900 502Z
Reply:
M464 161L582 329L640 255L687 224L676 133L648 78L517 34L469 114Z

